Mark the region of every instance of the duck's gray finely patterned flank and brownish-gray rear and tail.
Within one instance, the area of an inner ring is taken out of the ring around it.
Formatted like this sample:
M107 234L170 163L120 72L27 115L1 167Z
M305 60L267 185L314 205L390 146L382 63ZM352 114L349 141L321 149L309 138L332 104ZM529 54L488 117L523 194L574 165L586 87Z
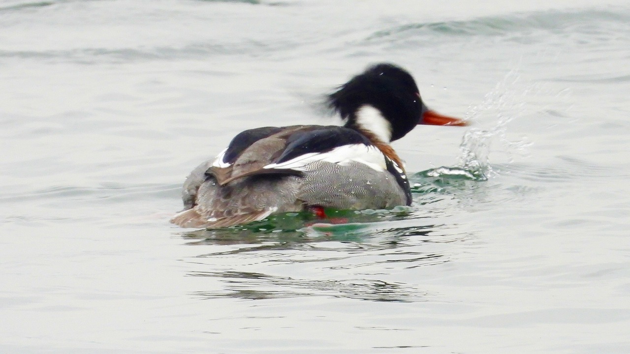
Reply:
M392 208L406 203L391 174L361 163L346 166L318 161L303 176L259 174L221 186L198 166L186 178L182 227L226 227L261 220L272 213L297 212L309 205L338 209ZM193 206L193 201L196 205Z

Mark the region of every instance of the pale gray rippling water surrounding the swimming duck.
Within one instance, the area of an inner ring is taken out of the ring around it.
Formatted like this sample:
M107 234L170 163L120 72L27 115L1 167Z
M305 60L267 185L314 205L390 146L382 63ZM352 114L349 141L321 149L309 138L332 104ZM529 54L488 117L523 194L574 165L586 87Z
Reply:
M0 351L628 353L626 1L0 1ZM469 128L414 203L178 229L244 128L372 62Z

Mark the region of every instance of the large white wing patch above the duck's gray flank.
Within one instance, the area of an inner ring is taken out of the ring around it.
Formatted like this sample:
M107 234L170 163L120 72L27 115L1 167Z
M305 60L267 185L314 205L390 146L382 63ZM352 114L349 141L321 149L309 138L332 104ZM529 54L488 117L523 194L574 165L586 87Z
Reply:
M350 163L362 163L375 171L385 171L385 156L375 146L365 144L352 144L335 147L328 152L309 152L289 161L279 164L268 164L265 169L294 169L295 171L307 171L306 166L317 161L340 164L346 166Z

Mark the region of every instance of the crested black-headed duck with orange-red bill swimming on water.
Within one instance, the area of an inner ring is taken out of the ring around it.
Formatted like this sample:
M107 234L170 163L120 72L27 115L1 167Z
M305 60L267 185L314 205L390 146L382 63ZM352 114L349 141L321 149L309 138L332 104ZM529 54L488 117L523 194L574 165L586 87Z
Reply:
M326 105L343 125L260 127L237 134L219 154L188 175L184 208L171 222L215 229L272 214L411 205L402 159L390 143L416 125L467 125L423 103L402 67L367 67L333 93Z

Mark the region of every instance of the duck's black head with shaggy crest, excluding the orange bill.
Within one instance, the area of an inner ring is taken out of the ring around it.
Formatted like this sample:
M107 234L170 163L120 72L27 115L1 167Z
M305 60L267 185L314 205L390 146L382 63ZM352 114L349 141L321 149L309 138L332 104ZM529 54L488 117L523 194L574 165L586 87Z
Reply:
M328 105L346 120L346 127L357 126L357 111L372 106L391 125L390 141L400 139L420 122L423 103L413 77L393 64L368 67L335 93L329 94Z

